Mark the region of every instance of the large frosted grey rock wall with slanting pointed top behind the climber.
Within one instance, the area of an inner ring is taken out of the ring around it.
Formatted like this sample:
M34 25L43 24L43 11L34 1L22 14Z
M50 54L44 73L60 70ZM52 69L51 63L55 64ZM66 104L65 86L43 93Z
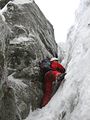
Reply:
M10 31L9 37L8 34L6 37L9 39L7 53L8 85L14 90L14 93L10 92L10 95L15 94L13 95L15 97L13 97L13 102L12 100L4 101L4 97L9 97L9 93L6 92L7 94L1 99L0 110L6 109L4 103L11 103L12 109L15 108L15 111L13 111L14 114L9 111L11 114L6 118L7 120L18 120L26 118L30 108L34 110L40 107L43 92L42 83L39 80L39 61L47 56L56 56L57 44L52 25L35 2L25 4L9 2L5 7L6 9L2 9L1 12ZM0 25L2 25L2 20ZM0 34L1 37L5 38L4 33ZM6 107L10 109L9 106L6 105ZM8 111L3 112L2 120L6 120L4 114L8 115Z

